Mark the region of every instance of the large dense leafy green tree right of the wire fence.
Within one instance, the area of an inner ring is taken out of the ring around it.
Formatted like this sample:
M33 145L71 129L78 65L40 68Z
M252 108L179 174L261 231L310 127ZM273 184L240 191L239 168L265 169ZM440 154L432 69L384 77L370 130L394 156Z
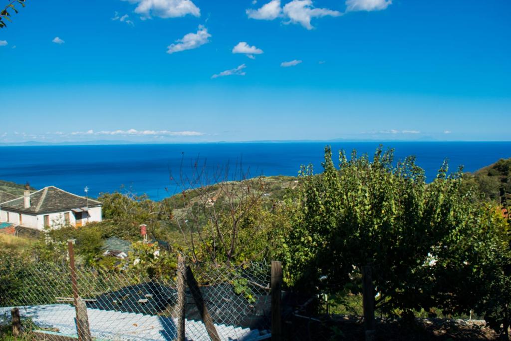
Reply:
M502 270L509 237L494 209L460 191L461 170L448 175L444 164L426 184L413 157L394 166L392 150L381 147L372 162L355 151L351 160L341 151L339 161L337 169L327 147L323 173L301 170L291 228L281 236L288 285L358 293L361 267L370 265L382 311L478 309L487 321L505 321L509 300L496 298L509 289Z

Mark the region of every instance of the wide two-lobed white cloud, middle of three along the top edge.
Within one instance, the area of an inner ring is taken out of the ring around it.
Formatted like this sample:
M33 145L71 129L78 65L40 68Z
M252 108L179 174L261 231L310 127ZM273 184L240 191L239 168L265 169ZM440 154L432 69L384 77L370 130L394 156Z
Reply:
M339 11L328 8L315 8L312 0L292 0L281 7L280 0L272 0L259 9L247 9L246 13L251 19L273 20L278 17L288 19L285 24L300 24L308 30L314 27L311 25L312 18L323 16L340 16Z

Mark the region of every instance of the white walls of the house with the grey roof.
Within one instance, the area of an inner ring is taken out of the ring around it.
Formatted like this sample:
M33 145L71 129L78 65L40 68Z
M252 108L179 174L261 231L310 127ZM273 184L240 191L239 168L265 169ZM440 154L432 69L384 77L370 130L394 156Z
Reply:
M62 211L56 213L49 213L49 222L50 226L62 226L65 224L65 213L69 214L69 224L75 226L76 225L76 217L73 211ZM44 229L44 216L46 214L38 214L30 215L30 214L21 214L21 222L19 221L19 213L17 212L9 212L2 210L0 211L0 221L2 222L10 222L13 224L19 224L22 226L26 226L27 228L43 230ZM93 207L89 208L88 211L88 219L87 213L82 214L82 225L85 225L87 222L92 221L101 221L102 220L102 210L101 207Z

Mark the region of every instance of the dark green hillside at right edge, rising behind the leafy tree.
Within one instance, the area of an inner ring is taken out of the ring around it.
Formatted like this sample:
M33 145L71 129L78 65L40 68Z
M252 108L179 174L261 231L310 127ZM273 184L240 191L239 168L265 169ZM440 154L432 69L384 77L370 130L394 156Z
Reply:
M487 200L497 200L501 187L511 193L511 158L501 158L496 163L465 174L465 185L475 186Z

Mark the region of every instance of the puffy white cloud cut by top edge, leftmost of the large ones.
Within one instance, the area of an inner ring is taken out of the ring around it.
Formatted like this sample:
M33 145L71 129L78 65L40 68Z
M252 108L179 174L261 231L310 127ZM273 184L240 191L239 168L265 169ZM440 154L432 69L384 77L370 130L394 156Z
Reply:
M160 18L175 18L191 14L200 16L200 9L191 0L125 0L137 4L135 13L144 18L151 15Z

